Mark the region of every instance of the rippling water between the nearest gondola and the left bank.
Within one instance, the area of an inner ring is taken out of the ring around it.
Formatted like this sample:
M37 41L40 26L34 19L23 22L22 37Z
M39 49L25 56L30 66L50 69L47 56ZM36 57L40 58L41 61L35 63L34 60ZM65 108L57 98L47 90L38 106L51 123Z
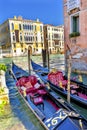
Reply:
M0 118L0 130L44 130L35 115L28 108L15 87L14 80L6 72L6 84L9 89L9 115Z

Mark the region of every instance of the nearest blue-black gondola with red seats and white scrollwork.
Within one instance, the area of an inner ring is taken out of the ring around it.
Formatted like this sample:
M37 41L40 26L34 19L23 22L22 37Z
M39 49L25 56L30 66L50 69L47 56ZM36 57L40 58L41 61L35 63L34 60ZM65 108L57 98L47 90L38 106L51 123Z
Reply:
M18 75L20 73L18 78L17 73ZM54 91L41 83L36 76L26 76L25 73L21 77L21 68L17 68L17 65L15 67L15 64L12 64L12 71L9 74L12 75L24 101L46 130L87 129L87 120Z

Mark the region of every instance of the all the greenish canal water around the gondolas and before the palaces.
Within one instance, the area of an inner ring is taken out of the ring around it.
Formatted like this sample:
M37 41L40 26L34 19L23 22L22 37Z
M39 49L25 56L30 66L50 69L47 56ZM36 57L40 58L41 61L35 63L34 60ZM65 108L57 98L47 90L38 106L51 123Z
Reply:
M42 65L42 56L31 56L31 59L36 63ZM24 70L28 71L28 58L27 57L14 57L14 58L2 58L0 63L11 63L14 61L17 65L22 67ZM50 69L57 68L65 71L65 60L64 55L50 55ZM31 68L31 74L34 74ZM76 76L75 73L72 76ZM83 81L87 84L86 76L82 75ZM9 87L11 91L13 84ZM14 86L14 91L16 88ZM11 92L12 94L13 92ZM10 95L11 104L9 113L5 117L0 118L0 130L43 130L44 128L40 125L39 121L36 119L31 110L26 106L25 102L21 96L16 92L13 93L13 96ZM17 104L15 102L17 101ZM87 119L87 110L82 108L77 104L72 104L74 108L79 111ZM19 113L17 113L17 110Z

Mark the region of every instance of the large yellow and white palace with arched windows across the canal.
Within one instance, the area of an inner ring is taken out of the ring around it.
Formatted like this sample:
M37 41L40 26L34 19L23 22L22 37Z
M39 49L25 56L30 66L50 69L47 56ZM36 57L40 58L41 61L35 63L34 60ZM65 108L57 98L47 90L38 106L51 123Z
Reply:
M0 25L0 43L6 55L24 55L28 47L32 54L40 54L44 48L43 23L14 16Z

